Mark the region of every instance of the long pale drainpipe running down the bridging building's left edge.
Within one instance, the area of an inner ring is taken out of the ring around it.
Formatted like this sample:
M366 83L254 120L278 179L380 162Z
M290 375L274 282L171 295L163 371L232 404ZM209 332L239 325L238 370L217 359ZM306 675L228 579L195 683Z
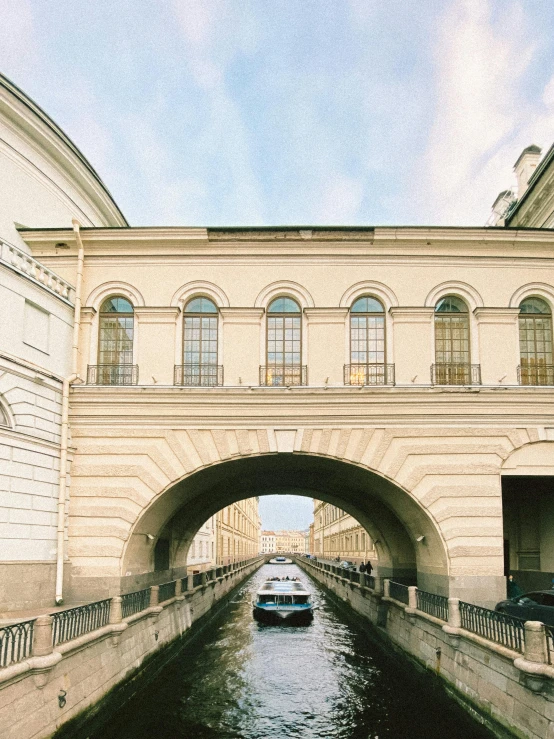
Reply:
M67 440L69 435L69 388L77 374L79 357L79 329L81 326L81 287L83 283L83 263L85 250L79 232L79 223L73 220L73 231L79 247L77 253L77 280L75 282L75 306L73 313L73 343L71 347L71 374L62 383L62 423L60 441L60 485L58 491L58 532L56 550L56 605L63 603L63 565L65 539L65 502L69 490L67 484Z

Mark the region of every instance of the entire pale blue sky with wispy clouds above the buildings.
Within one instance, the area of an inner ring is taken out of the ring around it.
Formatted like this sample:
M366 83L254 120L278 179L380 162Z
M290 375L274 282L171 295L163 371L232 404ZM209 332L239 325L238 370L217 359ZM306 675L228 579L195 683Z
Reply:
M553 0L0 0L132 225L483 225L554 140Z

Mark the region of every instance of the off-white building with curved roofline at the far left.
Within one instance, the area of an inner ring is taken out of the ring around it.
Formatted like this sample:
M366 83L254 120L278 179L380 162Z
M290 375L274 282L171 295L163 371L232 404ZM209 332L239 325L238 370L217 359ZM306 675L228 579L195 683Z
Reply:
M73 142L0 74L0 613L54 601L67 540L60 461L73 452L62 396L75 288L33 258L17 227L73 219L127 224Z

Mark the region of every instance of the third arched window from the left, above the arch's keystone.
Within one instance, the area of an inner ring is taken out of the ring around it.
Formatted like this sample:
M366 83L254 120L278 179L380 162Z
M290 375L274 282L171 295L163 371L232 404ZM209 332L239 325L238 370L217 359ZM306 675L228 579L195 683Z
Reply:
M262 385L305 385L302 366L302 313L292 298L275 298L267 309L267 366L262 368Z

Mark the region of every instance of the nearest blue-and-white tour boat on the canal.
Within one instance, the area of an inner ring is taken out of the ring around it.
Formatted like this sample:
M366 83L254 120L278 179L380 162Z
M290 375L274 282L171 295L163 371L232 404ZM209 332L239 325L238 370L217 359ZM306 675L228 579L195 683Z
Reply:
M313 618L311 594L298 580L264 582L252 607L254 618L268 623L307 622Z

